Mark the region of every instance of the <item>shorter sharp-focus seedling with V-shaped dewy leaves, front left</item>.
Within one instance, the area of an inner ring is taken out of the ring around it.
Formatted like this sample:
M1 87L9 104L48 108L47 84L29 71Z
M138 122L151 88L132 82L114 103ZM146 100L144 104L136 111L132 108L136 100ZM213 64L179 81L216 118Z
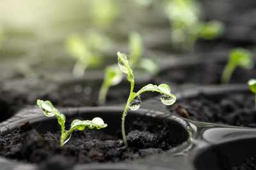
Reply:
M107 127L107 124L104 124L104 121L102 118L95 117L93 120L73 120L73 122L70 125L70 129L68 131L65 130L65 122L66 117L60 111L58 111L50 101L41 101L37 100L38 108L42 108L44 111L44 115L47 117L53 117L54 115L58 119L58 123L61 126L61 141L60 146L65 145L65 143L68 142L68 140L71 138L72 132L74 130L83 131L84 128L87 126L89 129L97 128L101 129L104 127Z

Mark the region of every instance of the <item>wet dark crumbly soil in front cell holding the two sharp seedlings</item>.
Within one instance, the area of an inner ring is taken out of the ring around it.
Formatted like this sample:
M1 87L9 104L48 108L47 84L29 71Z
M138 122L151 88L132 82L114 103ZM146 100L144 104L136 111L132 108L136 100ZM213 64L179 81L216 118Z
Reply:
M66 125L70 124L67 122ZM44 123L42 124L44 125ZM120 162L157 155L173 147L164 120L138 118L127 134L129 148L124 146L121 132L114 136L97 129L74 131L72 138L60 146L60 128L40 134L29 123L0 137L0 155L36 163L40 169L70 169L75 164Z

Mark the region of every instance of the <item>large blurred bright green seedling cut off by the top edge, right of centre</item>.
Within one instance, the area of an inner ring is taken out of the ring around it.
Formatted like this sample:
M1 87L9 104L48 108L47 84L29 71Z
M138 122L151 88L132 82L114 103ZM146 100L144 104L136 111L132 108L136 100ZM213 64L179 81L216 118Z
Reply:
M224 31L220 21L202 22L201 6L194 0L166 0L162 8L172 25L171 38L175 48L193 50L196 39L214 39Z

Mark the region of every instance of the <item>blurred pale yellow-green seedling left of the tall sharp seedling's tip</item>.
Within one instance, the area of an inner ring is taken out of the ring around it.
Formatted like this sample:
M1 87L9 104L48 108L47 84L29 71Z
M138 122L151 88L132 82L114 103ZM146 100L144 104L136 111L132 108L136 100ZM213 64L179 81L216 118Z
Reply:
M79 34L70 34L65 47L67 52L76 59L72 74L81 78L87 67L99 67L103 62L102 53L112 48L112 41L96 31L88 31L83 37Z

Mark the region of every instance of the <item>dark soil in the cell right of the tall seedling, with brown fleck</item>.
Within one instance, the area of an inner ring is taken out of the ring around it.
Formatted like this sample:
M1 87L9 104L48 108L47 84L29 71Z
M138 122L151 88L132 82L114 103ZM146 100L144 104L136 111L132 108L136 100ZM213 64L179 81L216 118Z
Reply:
M215 96L200 94L178 99L168 110L186 117L185 110L191 120L200 122L256 127L254 94L250 92L223 92Z

